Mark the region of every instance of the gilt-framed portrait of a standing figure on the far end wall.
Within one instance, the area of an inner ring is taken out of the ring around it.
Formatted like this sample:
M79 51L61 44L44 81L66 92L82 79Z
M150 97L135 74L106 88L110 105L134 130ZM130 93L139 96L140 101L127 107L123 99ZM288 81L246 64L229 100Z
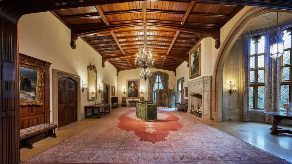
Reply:
M127 79L127 99L140 99L140 80Z

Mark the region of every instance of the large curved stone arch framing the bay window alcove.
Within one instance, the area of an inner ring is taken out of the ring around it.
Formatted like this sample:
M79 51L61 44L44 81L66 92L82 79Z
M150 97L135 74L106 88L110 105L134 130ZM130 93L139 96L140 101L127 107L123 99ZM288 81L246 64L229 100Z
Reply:
M235 23L233 28L230 30L226 36L219 53L216 58L213 71L213 82L212 82L212 119L215 122L222 122L222 76L223 68L227 56L239 37L239 35L247 27L247 22L257 16L272 13L272 12L286 12L292 13L292 11L280 10L280 9L271 9L271 8L259 8L253 7L246 11L240 19Z

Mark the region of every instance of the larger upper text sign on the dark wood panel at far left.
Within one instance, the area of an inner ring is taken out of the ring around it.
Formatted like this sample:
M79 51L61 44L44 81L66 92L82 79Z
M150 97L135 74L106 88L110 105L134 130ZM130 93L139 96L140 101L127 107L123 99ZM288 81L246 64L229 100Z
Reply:
M16 64L3 61L2 81L16 83Z

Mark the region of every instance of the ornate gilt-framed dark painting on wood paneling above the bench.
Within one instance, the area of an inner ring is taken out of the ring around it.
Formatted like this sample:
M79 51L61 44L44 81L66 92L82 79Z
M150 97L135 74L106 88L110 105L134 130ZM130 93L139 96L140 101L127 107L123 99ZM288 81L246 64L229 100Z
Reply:
M41 95L44 88L44 71L44 67L33 63L19 62L20 105L43 104Z

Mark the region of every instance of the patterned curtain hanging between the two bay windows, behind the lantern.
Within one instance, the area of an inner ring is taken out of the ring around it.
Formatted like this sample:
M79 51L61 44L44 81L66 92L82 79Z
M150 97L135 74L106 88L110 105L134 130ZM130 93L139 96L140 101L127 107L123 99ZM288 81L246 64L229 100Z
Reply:
M276 29L266 32L265 50L265 111L278 111L280 102L281 59L270 57L270 37ZM278 29L281 35L281 29ZM273 123L271 115L265 114L265 123Z

